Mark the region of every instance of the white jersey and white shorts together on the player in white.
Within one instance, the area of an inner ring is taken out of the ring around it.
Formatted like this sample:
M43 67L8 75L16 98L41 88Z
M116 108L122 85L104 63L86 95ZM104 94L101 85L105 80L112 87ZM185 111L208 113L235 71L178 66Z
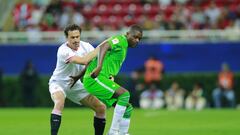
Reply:
M83 41L80 41L78 50L69 48L67 42L58 48L57 65L49 80L49 92L51 95L57 91L62 91L65 97L77 104L81 104L79 101L88 96L89 93L84 89L80 80L70 88L71 78L69 76L78 75L84 65L68 63L68 60L73 56L84 56L93 50L92 45Z

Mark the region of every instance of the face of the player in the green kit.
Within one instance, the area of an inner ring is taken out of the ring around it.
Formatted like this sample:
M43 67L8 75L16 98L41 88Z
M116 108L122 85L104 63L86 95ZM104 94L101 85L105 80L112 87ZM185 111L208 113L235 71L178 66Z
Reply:
M130 31L127 33L129 47L136 47L138 42L142 39L140 31Z

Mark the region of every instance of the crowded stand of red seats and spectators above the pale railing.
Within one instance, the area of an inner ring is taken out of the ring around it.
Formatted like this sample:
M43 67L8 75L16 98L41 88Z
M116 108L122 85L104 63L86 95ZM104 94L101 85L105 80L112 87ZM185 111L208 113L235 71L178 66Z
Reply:
M240 0L168 0L169 4L162 0L45 1L17 2L13 29L27 31L37 25L40 31L58 31L69 22L85 30L120 30L133 23L146 30L240 27Z

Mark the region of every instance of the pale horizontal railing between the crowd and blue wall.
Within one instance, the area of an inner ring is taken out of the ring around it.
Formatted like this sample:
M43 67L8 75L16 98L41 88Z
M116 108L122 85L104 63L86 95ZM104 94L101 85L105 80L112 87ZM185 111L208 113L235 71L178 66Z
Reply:
M82 40L100 42L122 31L83 31ZM151 30L144 31L146 42L159 41L239 41L240 29L225 30ZM63 32L0 32L0 44L4 43L58 43L65 40Z

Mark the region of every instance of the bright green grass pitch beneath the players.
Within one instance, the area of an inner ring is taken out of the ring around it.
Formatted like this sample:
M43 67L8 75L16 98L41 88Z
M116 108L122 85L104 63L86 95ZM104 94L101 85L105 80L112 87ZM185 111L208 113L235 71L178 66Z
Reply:
M1 108L0 135L49 135L51 108ZM113 109L107 112L107 126ZM93 112L65 108L59 135L93 135ZM135 109L131 135L239 135L240 110L167 111Z

